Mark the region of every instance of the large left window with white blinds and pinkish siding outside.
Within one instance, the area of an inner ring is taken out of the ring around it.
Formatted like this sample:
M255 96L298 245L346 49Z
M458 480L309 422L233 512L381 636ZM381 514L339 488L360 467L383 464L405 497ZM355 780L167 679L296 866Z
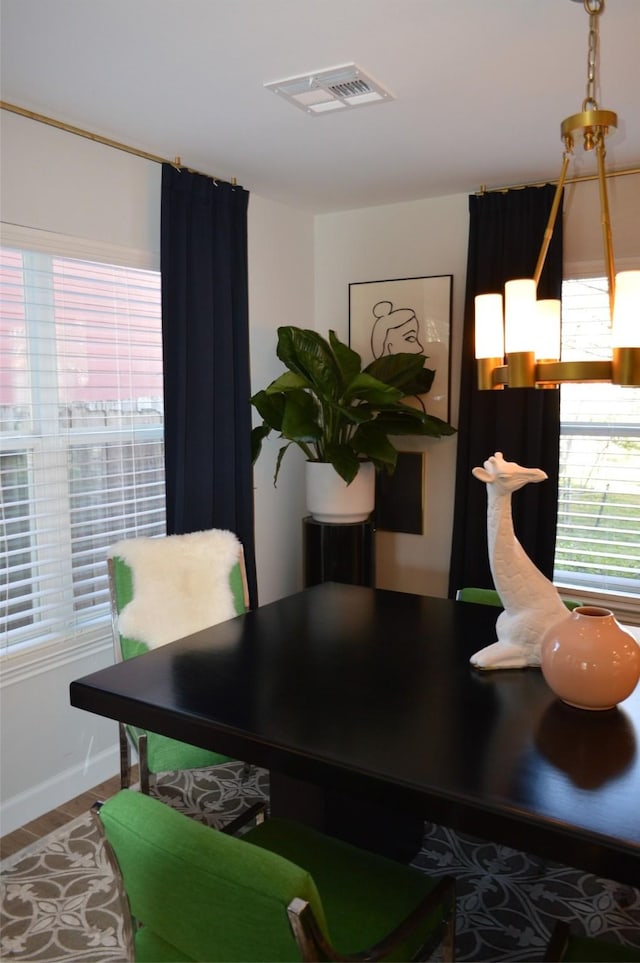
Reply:
M2 651L104 638L108 545L165 531L159 273L3 247L0 306Z

